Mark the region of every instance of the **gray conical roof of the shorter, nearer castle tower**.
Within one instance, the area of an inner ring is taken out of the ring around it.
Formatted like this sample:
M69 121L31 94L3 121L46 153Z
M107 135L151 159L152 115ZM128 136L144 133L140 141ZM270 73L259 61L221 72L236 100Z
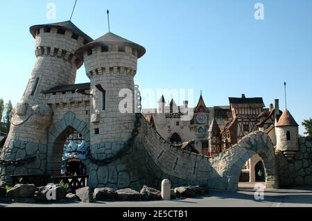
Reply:
M83 58L83 53L89 50L90 48L94 48L95 46L109 46L109 45L118 45L118 46L130 46L137 50L137 58L141 58L145 53L146 50L143 46L131 42L128 39L120 37L119 35L115 35L114 33L106 33L102 37L95 39L93 42L86 44L85 46L79 48L76 51L76 56L78 58Z

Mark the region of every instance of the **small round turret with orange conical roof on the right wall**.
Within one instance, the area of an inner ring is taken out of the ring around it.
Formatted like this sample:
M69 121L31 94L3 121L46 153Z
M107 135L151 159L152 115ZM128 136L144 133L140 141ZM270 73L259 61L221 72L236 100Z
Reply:
M285 109L275 125L277 150L281 150L288 160L293 159L299 150L298 124L288 109Z

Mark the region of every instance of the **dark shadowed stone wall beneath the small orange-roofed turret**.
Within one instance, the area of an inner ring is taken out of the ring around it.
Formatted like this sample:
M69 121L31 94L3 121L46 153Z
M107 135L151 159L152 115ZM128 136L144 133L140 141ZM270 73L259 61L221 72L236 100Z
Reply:
M281 186L312 185L312 139L299 139L299 152L293 161L287 161L284 154L277 154L279 181Z

